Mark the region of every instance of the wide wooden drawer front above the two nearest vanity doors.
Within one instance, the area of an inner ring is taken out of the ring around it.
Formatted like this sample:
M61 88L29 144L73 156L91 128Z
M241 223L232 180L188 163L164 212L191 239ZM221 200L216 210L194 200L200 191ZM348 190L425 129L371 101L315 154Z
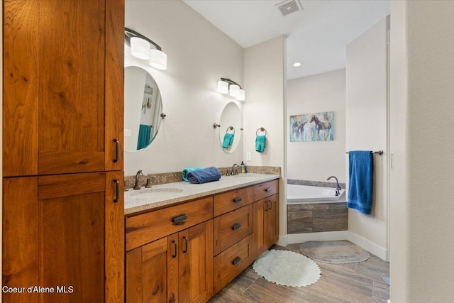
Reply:
M213 218L212 197L128 217L126 218L126 251L211 218Z

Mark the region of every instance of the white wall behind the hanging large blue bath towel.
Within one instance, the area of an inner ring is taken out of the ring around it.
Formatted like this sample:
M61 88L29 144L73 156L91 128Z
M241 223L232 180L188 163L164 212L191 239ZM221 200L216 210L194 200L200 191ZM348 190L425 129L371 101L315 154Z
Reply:
M385 18L347 45L347 150L384 150L374 156L372 213L349 209L353 240L387 258L387 28ZM348 156L345 156L348 165ZM348 169L346 174L348 175ZM348 177L347 177L348 184ZM355 239L356 238L356 239Z

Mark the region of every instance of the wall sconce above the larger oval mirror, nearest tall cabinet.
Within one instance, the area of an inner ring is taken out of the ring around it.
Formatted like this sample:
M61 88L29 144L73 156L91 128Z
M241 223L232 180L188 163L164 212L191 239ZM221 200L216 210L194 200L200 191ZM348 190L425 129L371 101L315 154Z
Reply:
M125 43L131 46L131 55L142 60L150 60L150 65L158 70L167 70L167 55L161 47L140 33L125 28ZM150 48L153 45L154 48Z

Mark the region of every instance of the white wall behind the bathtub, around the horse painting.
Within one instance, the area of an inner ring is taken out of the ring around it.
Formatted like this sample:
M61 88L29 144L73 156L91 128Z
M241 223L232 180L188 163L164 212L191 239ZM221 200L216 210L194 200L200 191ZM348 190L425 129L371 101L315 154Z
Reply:
M323 111L334 111L334 141L288 142L287 178L345 183L345 69L287 82L287 133L289 116Z

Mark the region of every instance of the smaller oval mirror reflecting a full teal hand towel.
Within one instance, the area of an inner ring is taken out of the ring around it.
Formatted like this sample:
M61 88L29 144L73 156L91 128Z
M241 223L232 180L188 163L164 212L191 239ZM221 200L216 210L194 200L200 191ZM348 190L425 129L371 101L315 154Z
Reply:
M224 107L219 119L218 127L219 143L226 153L233 153L241 140L243 133L243 119L235 102L230 102Z

